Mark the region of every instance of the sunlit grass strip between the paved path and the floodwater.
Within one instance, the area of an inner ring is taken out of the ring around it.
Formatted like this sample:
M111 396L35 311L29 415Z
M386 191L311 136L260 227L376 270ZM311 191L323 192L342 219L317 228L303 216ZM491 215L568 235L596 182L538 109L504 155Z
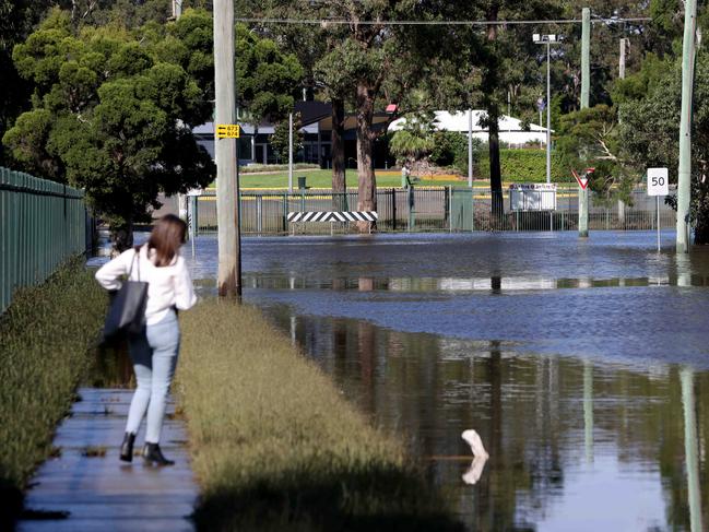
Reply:
M257 309L206 300L180 322L199 530L460 530L402 446Z

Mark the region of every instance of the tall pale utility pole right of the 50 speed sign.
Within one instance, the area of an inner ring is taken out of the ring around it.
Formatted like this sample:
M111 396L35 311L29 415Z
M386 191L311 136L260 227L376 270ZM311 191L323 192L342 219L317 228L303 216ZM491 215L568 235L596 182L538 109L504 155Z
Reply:
M680 118L680 168L677 173L678 253L689 252L689 201L692 197L692 98L696 50L697 0L684 2L684 42L682 45L682 115Z

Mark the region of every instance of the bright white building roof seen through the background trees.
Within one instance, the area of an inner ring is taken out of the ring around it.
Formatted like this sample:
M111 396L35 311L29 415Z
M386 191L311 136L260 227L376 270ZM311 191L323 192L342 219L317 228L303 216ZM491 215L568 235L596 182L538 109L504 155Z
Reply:
M487 118L487 111L473 110L473 129L474 139L483 142L488 141L487 128L481 126ZM399 131L406 123L405 118L399 118L389 125L389 131ZM434 127L439 131L458 131L468 134L468 111L449 113L447 110L435 111ZM553 132L554 130L552 130ZM499 118L499 140L512 147L521 147L528 143L546 144L546 128L536 123L530 123L529 130L522 127L522 121L503 115Z

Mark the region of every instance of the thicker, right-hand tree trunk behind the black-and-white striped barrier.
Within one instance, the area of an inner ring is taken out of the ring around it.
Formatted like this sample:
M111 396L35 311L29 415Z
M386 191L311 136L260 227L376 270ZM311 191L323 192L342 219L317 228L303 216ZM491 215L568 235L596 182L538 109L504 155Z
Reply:
M357 85L357 211L377 210L377 179L373 164L374 94L364 83ZM375 228L373 222L357 222L361 233Z

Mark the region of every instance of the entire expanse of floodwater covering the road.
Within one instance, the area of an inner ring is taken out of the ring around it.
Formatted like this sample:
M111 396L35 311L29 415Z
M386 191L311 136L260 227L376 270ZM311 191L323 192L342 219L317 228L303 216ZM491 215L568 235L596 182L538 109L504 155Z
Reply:
M709 252L673 238L249 238L245 299L406 441L470 530L699 532ZM196 250L214 279L216 239Z

